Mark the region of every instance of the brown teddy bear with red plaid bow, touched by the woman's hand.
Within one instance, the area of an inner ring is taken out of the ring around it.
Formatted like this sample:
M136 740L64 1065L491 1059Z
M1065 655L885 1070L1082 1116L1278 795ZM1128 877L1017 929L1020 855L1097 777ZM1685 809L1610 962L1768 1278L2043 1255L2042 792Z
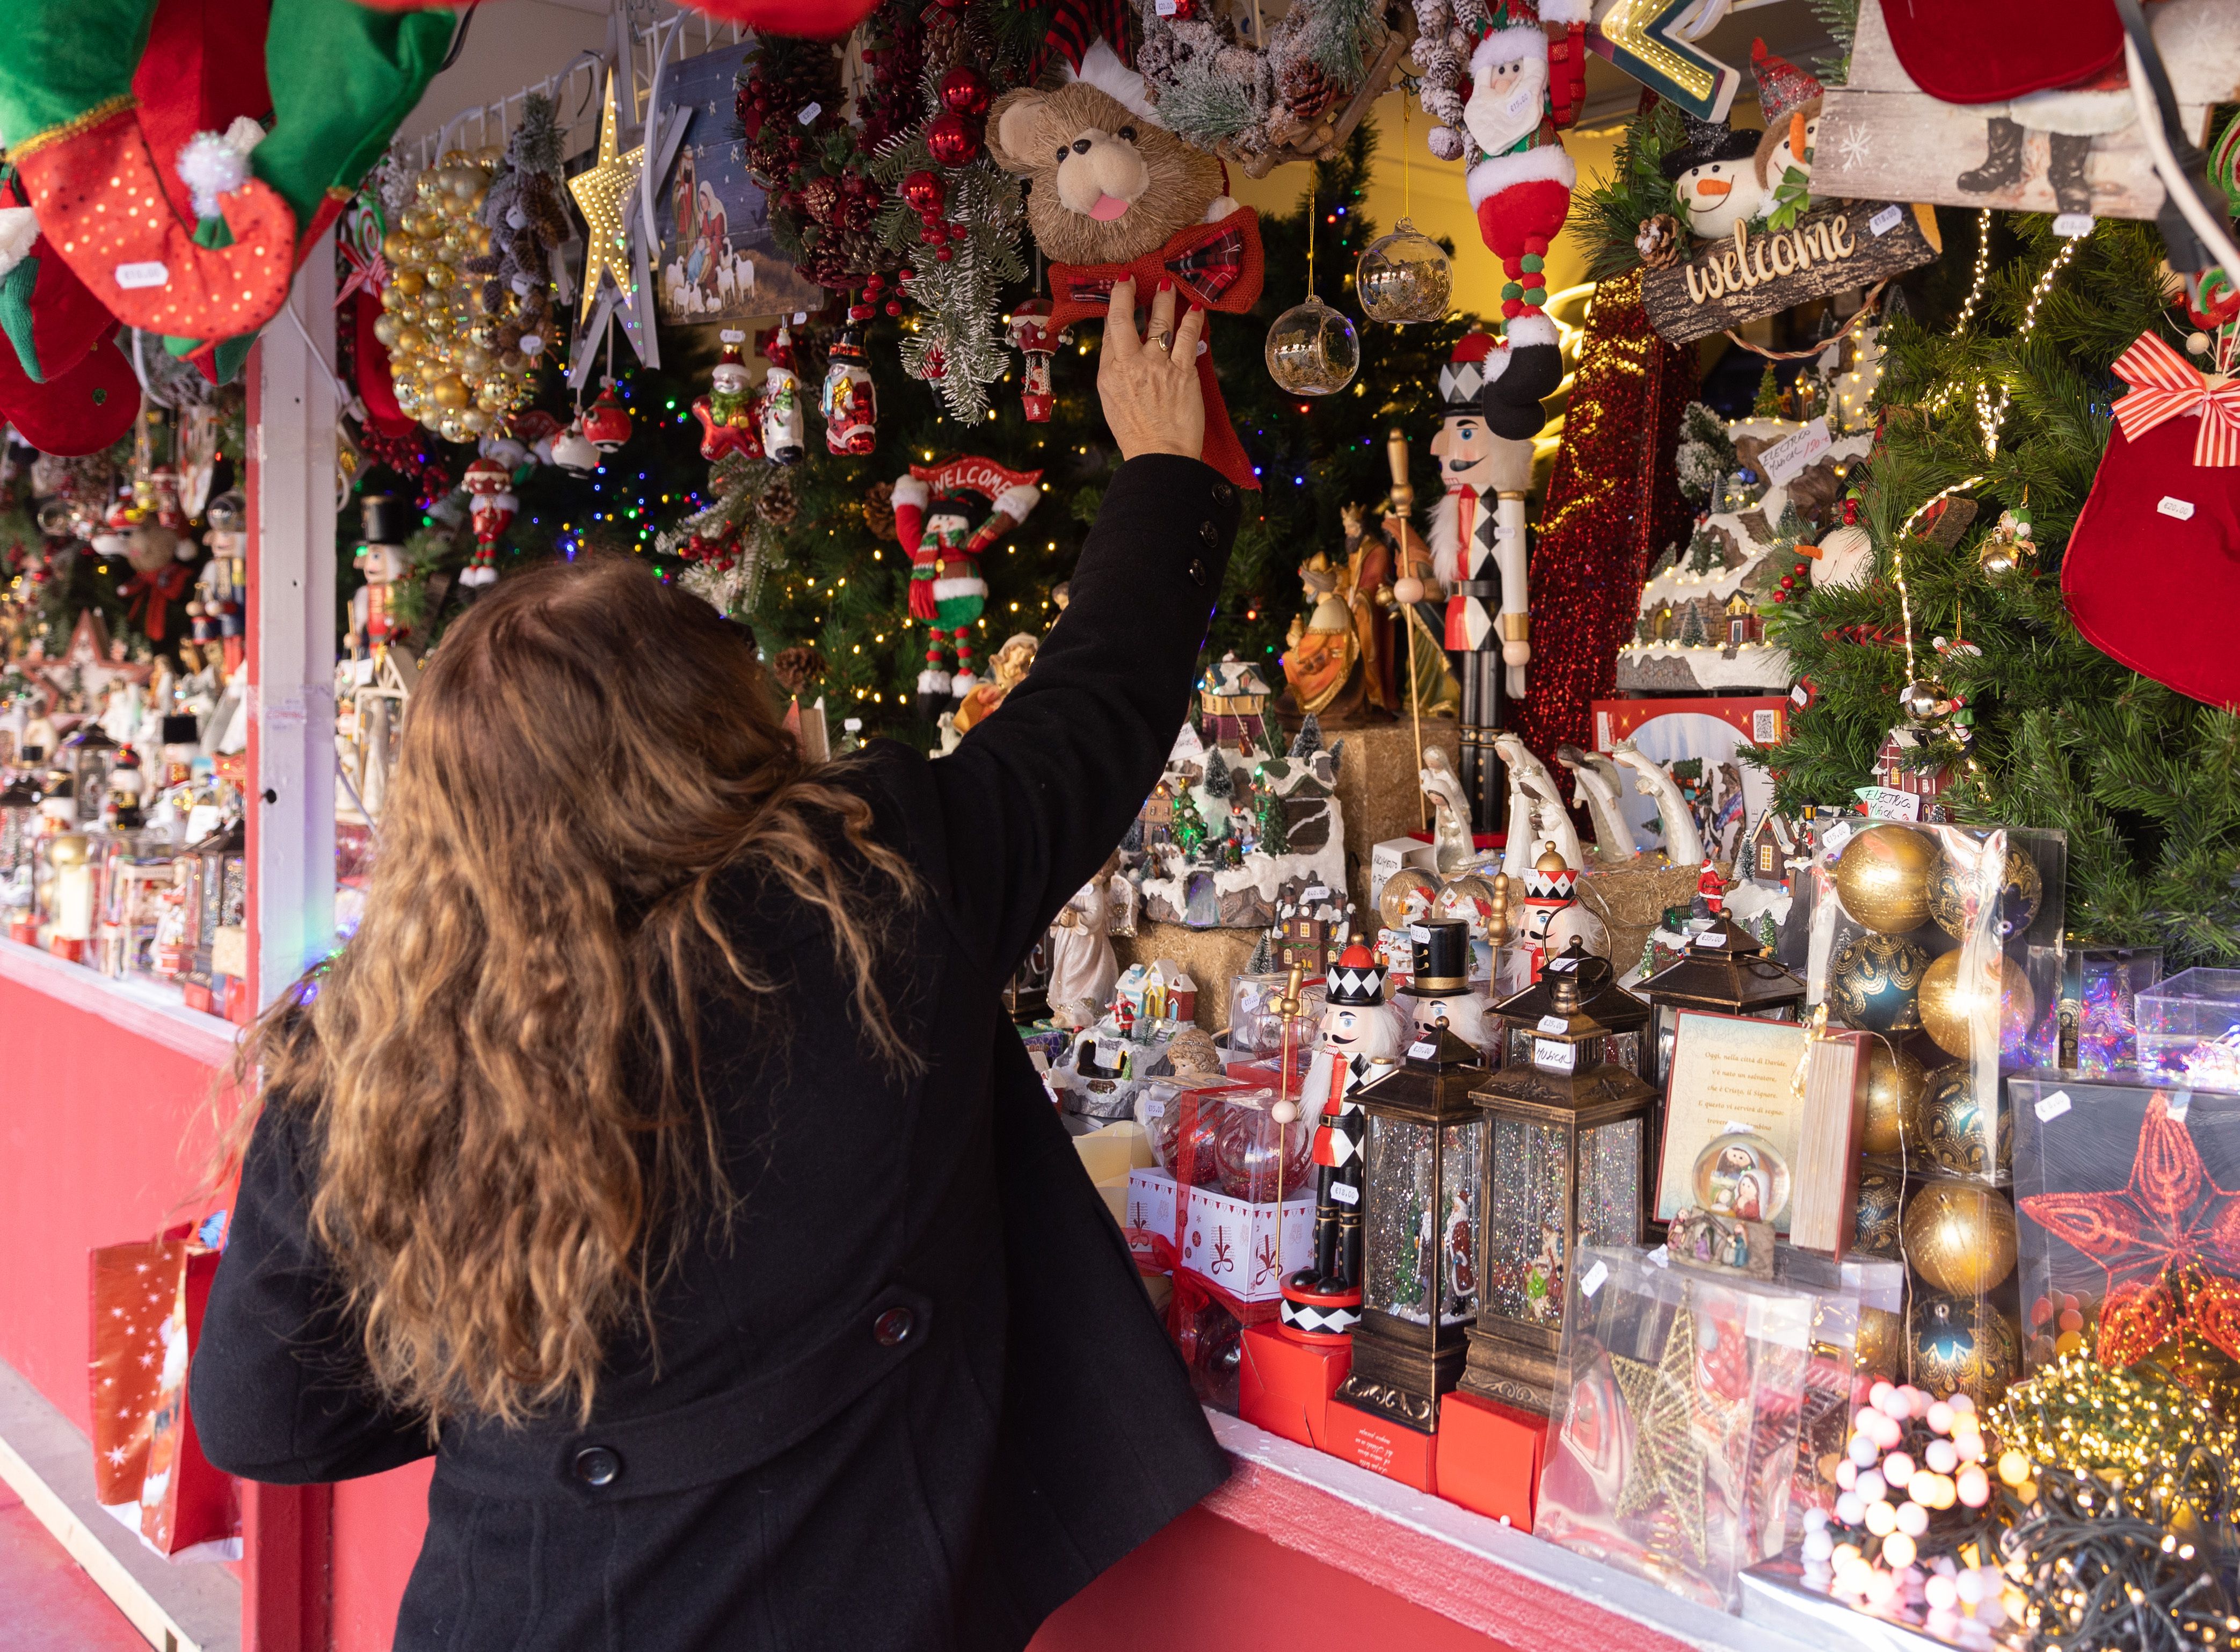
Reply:
M1183 303L1241 314L1261 291L1259 215L1225 188L1219 159L1089 81L1017 90L988 112L988 155L1026 179L1026 226L1051 260L1051 327L1102 318L1116 282L1136 278L1147 309L1160 278ZM1257 489L1198 345L1205 462Z

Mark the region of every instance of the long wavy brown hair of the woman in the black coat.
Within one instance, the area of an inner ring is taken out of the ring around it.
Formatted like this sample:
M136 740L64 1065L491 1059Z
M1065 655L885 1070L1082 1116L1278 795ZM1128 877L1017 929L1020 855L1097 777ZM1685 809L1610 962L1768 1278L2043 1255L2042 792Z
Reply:
M822 915L896 1069L876 964L916 883L802 760L746 632L623 558L508 578L450 628L388 798L356 937L242 1065L314 1121L311 1231L381 1392L430 1426L587 1417L609 1338L652 1336L663 1269L732 1208L694 1000L786 1036L717 881Z

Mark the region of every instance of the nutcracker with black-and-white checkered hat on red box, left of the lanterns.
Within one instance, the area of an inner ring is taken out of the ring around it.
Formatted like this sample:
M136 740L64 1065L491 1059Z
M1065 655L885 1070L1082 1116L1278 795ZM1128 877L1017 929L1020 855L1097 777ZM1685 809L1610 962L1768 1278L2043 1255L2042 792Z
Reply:
M1355 941L1328 975L1322 1038L1301 1105L1317 1107L1315 1264L1284 1280L1281 1327L1304 1340L1337 1340L1362 1318L1362 1143L1369 1116L1353 1092L1371 1062L1400 1054L1400 1024L1384 1006L1384 966Z

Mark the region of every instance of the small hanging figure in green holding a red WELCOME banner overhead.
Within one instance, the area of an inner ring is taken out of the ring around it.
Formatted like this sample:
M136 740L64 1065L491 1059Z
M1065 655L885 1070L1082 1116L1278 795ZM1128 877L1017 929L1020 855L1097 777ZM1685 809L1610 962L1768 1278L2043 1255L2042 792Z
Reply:
M912 464L909 475L894 484L894 531L909 554L909 616L932 623L925 670L918 672L918 706L927 717L936 702L979 681L972 675L972 623L988 605L979 558L1042 502L1039 484L1042 471L1006 471L972 457ZM995 507L979 529L972 527L970 495ZM941 668L948 652L956 655L954 672Z

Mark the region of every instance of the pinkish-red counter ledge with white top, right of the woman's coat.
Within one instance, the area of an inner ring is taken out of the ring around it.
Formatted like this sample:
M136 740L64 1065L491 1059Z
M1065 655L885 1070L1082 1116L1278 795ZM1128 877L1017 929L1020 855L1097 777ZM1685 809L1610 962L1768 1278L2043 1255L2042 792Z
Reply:
M1205 1412L1230 1484L1205 1509L1514 1652L1808 1652L1805 1643L1682 1600L1499 1520L1474 1515L1252 1423Z

